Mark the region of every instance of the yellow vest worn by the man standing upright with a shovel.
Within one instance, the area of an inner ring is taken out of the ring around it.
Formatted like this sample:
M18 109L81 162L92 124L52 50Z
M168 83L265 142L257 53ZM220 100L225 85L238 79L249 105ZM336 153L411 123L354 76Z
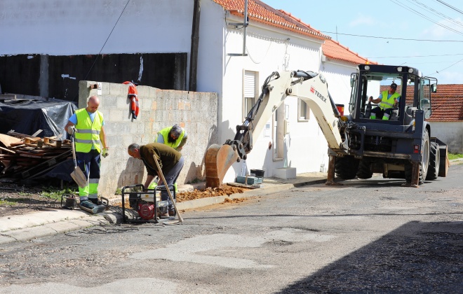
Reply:
M95 113L95 118L90 120L86 109L76 110L76 152L88 153L95 146L98 152L100 147L100 131L103 124L103 115L100 111Z

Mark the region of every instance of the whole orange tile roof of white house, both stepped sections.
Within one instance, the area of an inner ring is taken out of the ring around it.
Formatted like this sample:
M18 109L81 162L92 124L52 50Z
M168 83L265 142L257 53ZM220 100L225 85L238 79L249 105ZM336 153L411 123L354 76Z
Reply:
M243 0L213 1L234 15L244 14ZM296 18L291 13L285 10L276 10L260 0L248 0L248 16L250 20L325 40L325 43L322 44L323 55L330 59L342 60L353 64L377 64L377 62L372 62L365 57L361 57L358 53L349 50L349 48L341 45L339 42L333 41L330 36L322 34L321 31L302 22L300 18Z

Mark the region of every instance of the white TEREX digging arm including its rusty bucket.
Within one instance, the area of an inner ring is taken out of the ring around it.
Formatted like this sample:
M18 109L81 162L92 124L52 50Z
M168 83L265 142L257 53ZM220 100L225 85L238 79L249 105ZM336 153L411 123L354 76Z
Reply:
M213 144L206 152L206 186L218 188L229 167L236 161L246 160L271 115L288 96L302 99L314 113L318 125L328 141L328 147L343 153L338 129L340 113L330 97L325 78L311 71L274 71L262 85L259 99L250 109L243 125L236 126L233 140L224 145Z

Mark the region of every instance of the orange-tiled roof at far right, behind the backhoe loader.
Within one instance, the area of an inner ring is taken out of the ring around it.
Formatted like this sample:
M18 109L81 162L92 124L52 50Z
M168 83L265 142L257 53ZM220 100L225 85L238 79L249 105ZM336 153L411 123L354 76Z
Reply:
M389 86L381 86L381 91ZM413 88L407 87L407 97L412 97ZM412 103L412 99L407 99ZM463 85L443 84L437 86L437 92L431 93L432 114L430 122L461 122L463 121Z

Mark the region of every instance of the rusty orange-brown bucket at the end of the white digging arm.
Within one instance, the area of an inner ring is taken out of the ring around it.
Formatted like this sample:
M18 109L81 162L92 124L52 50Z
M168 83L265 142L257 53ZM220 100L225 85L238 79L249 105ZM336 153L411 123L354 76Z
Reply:
M230 145L213 144L206 151L206 187L220 188L227 170L238 159Z

